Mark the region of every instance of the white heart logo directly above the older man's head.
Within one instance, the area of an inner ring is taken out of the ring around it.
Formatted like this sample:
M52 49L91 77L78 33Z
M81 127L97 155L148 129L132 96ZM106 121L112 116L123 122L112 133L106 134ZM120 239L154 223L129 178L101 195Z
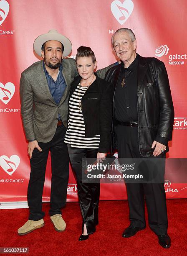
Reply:
M123 3L115 0L111 3L111 12L121 25L130 17L133 8L134 3L131 0L125 0Z

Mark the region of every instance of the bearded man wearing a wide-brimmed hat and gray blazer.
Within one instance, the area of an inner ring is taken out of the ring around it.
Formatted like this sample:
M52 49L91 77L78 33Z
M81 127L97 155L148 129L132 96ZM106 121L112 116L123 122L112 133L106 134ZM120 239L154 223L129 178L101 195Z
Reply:
M42 194L49 151L52 171L49 214L56 231L66 228L61 208L66 205L69 160L63 140L70 85L78 73L74 59L63 59L71 53L71 42L56 30L38 36L34 50L43 61L25 69L20 79L21 115L31 171L28 184L30 214L28 221L18 229L19 235L44 226Z

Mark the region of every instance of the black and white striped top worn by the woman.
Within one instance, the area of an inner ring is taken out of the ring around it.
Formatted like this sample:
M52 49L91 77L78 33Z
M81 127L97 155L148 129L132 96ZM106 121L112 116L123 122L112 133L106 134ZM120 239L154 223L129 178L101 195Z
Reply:
M69 99L68 130L64 142L71 144L73 148L99 148L100 135L96 135L93 138L85 138L83 114L82 110L78 107L87 89L88 86L81 87L79 83Z

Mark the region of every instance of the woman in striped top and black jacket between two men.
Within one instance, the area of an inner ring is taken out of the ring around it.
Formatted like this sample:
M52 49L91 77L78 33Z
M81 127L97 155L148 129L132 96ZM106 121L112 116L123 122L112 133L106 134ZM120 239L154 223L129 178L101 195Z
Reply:
M68 129L64 139L76 173L78 196L83 216L79 241L96 231L100 183L85 183L84 170L89 159L102 161L110 149L112 92L109 82L96 77L97 61L91 48L77 49L76 65L80 77L71 84Z

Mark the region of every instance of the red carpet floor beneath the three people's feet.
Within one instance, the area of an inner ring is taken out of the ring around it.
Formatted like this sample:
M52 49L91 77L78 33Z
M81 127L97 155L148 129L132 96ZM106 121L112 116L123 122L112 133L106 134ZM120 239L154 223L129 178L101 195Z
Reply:
M0 247L29 247L30 256L187 255L187 200L167 200L167 208L172 239L169 249L159 245L148 225L134 237L121 237L129 225L126 200L100 202L99 225L87 241L78 241L82 221L78 202L68 202L63 210L67 227L62 233L53 228L48 203L43 204L45 226L25 236L18 236L17 229L27 220L28 209L0 210Z

